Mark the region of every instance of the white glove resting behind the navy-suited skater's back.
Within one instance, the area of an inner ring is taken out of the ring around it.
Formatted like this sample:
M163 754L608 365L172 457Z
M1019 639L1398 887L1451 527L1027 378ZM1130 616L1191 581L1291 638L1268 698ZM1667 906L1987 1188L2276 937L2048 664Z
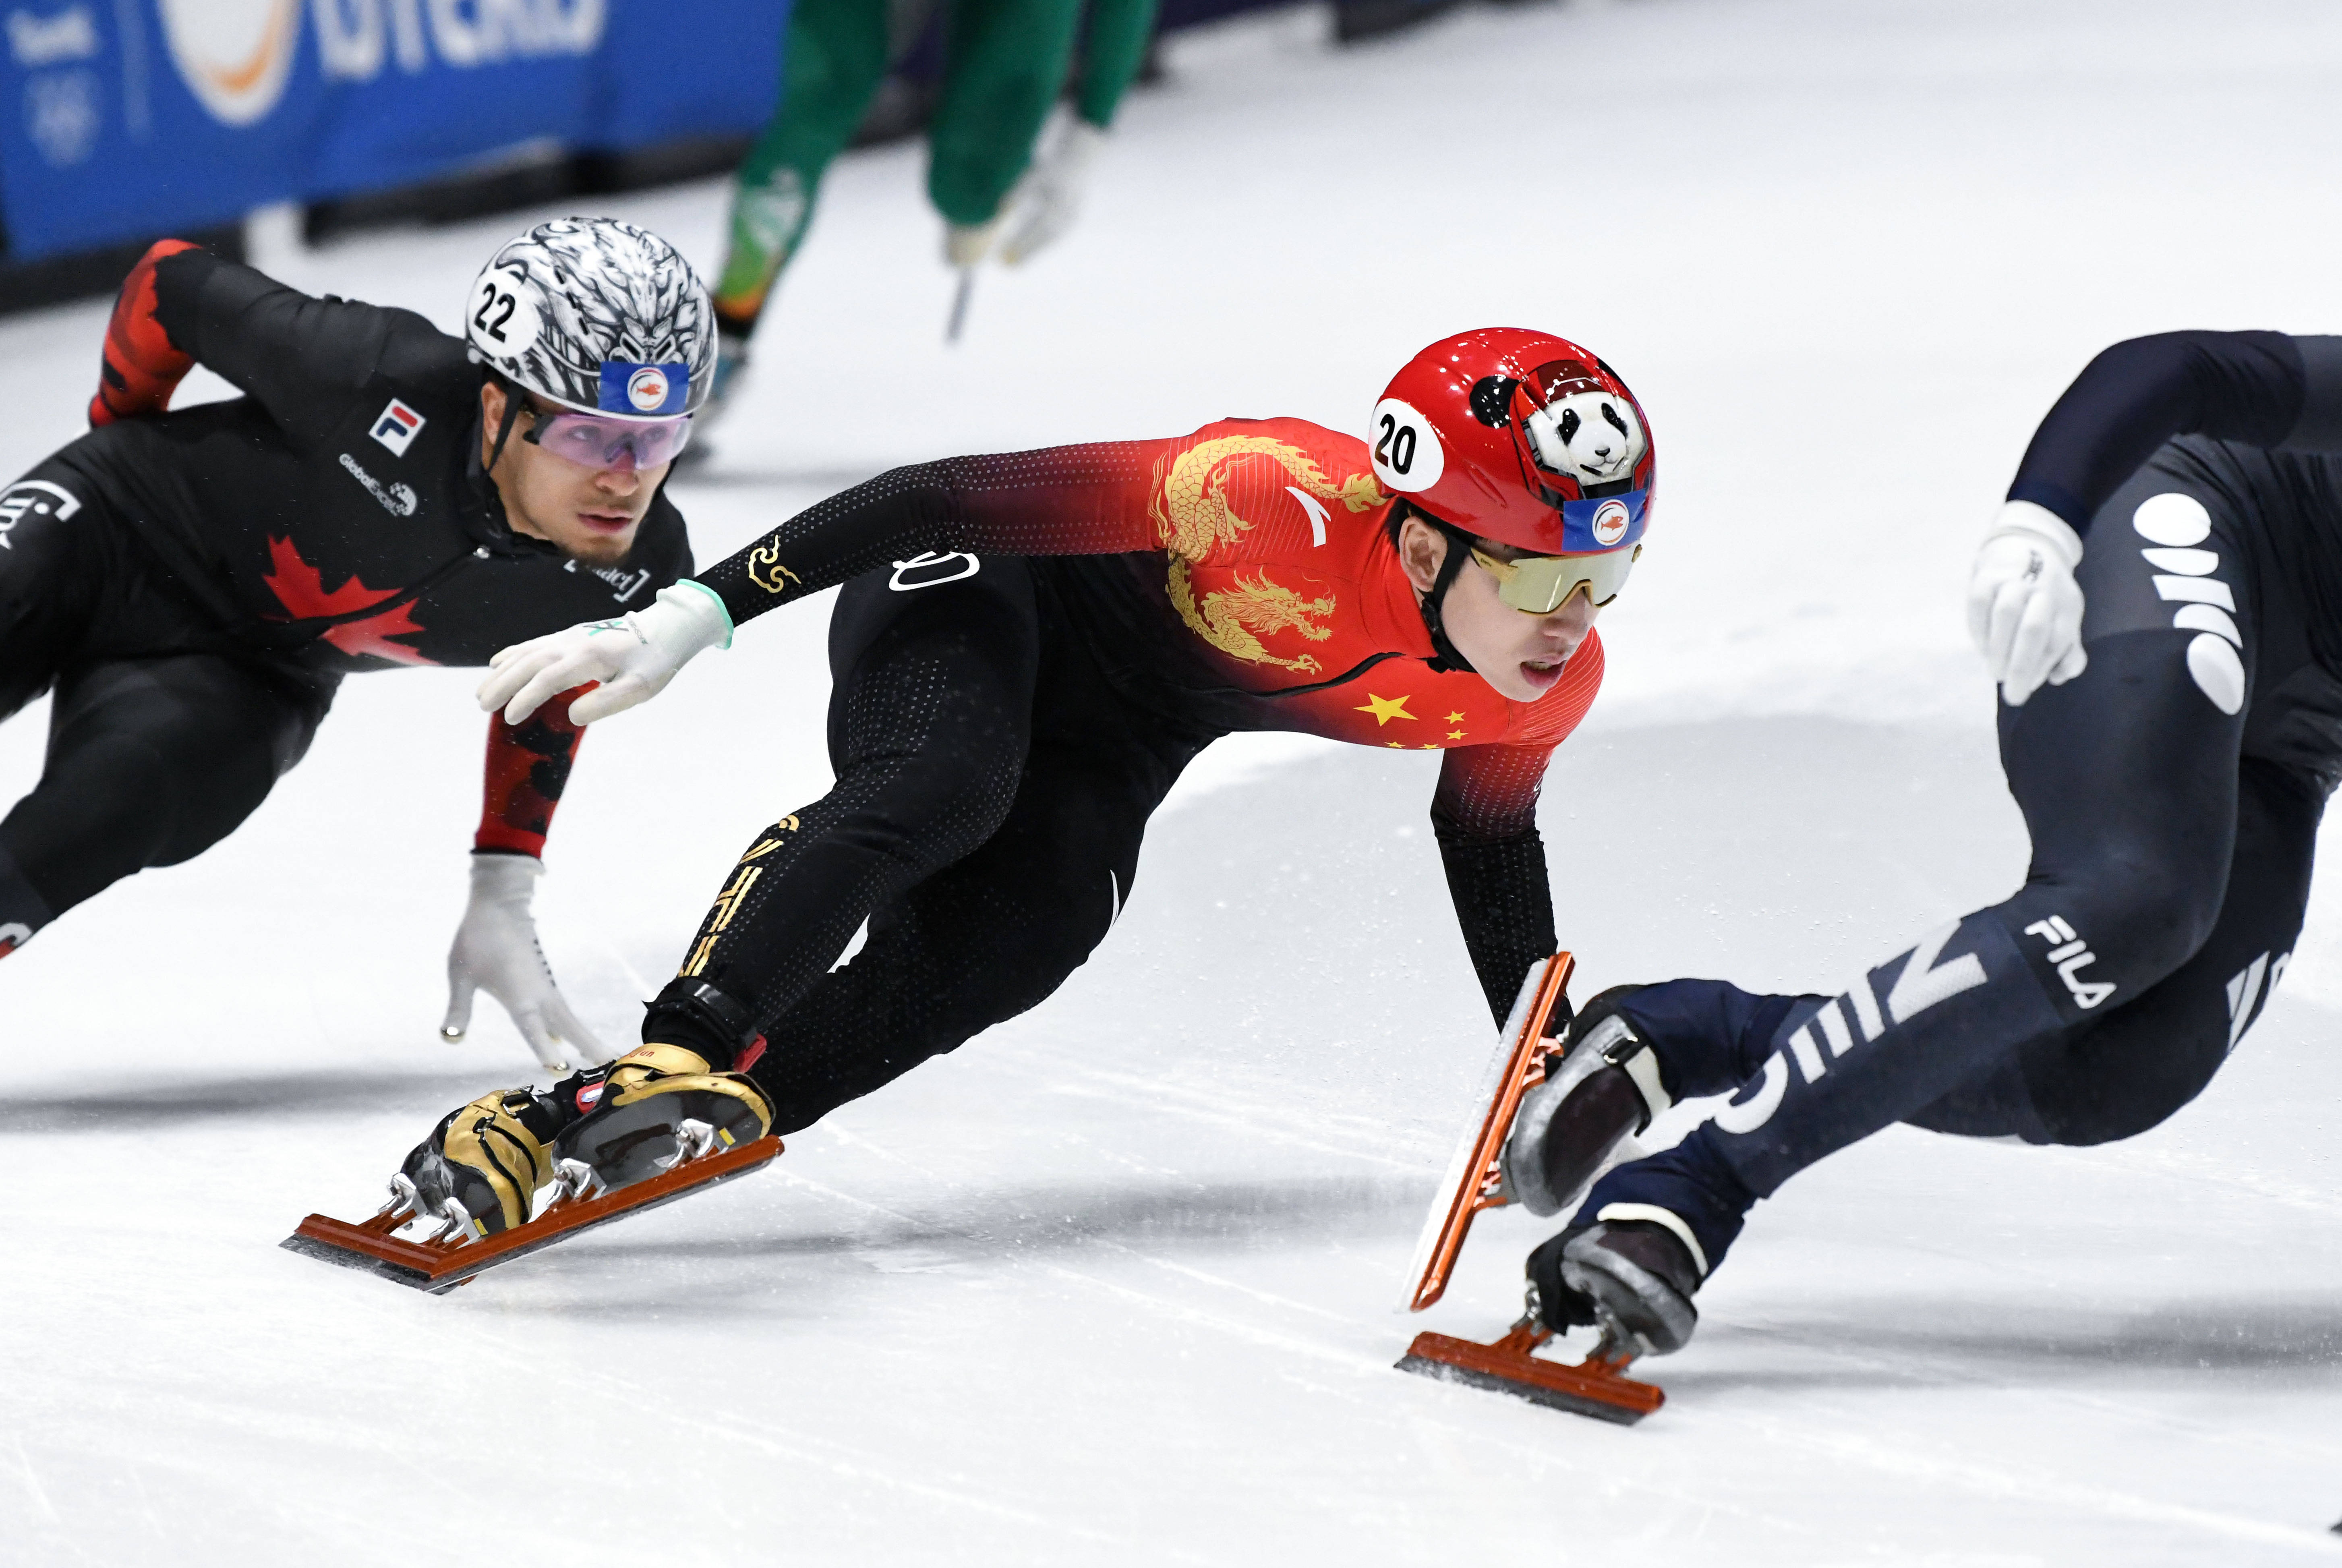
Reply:
M1967 635L2009 708L2023 708L2042 682L2063 687L2089 666L2077 565L2082 537L2033 502L2009 502L1984 534L1967 577Z

